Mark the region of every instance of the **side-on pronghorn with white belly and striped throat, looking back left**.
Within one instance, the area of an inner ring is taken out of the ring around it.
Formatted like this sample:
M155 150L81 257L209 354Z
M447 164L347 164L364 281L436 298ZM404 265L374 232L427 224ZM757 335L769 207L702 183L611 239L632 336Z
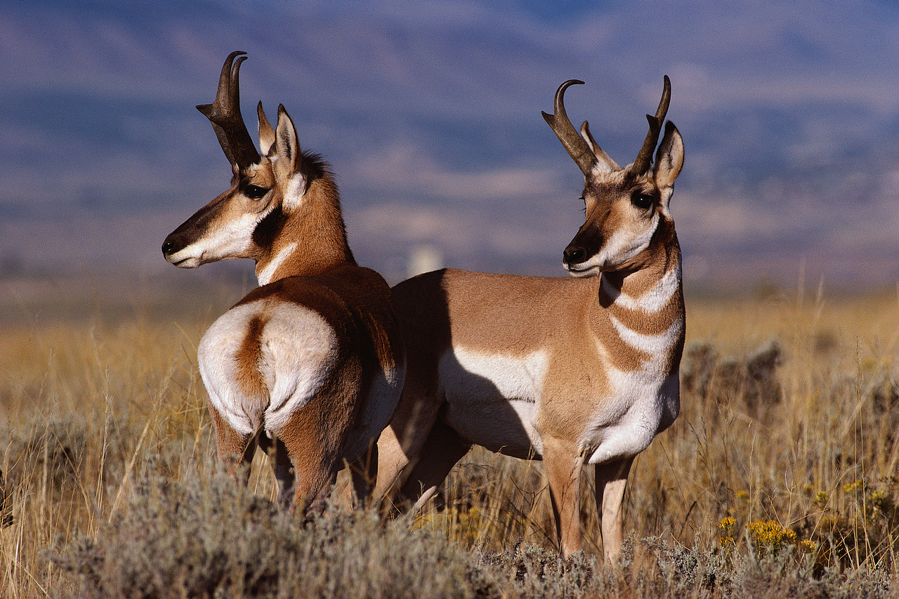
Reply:
M431 497L473 444L546 464L563 555L581 549L580 478L593 464L606 559L618 556L631 462L680 409L681 250L669 211L683 164L668 109L619 167L565 115L543 113L584 176L586 221L565 247L574 279L442 270L393 289L405 389L378 440L376 496ZM405 478L405 483L403 479Z

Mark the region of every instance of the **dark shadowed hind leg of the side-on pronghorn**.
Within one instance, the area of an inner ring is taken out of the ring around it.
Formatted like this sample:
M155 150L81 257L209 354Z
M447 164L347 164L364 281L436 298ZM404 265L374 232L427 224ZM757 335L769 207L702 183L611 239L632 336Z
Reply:
M401 490L400 500L415 500L417 511L437 493L449 470L461 460L471 443L467 443L449 425L439 418L424 441L419 459Z

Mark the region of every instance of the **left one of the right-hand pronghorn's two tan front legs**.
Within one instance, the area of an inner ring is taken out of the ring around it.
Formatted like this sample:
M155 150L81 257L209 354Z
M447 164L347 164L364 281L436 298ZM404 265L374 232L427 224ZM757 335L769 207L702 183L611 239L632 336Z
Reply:
M543 437L543 463L549 479L549 497L556 516L556 535L562 557L581 550L582 457L571 443Z

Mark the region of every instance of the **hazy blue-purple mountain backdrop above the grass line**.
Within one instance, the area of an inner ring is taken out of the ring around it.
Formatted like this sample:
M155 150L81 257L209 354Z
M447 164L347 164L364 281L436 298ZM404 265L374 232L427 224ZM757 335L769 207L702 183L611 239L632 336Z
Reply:
M688 284L899 280L893 2L85 4L0 4L7 271L174 271L163 238L229 176L194 105L243 49L251 129L257 100L285 105L394 280L416 246L562 275L583 179L540 111L583 79L569 115L626 164L663 74Z

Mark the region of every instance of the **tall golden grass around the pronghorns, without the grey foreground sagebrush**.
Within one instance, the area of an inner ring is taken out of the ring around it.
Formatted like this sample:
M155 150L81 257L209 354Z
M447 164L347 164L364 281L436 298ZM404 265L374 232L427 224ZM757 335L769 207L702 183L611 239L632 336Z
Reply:
M138 306L104 318L101 302L92 317L4 326L0 595L75 595L77 572L54 555L108 539L146 491L147 473L173 483L214 476L196 344L228 299L176 317ZM681 416L631 474L633 555L661 546L725 560L788 555L809 577L895 579L896 294L688 298L687 332L692 378ZM752 356L771 342L777 365L752 371ZM261 460L251 489L273 498ZM583 493L586 549L597 553L592 489ZM539 462L478 450L402 525L476 550L482 564L556 543ZM518 568L510 580L527 577Z

